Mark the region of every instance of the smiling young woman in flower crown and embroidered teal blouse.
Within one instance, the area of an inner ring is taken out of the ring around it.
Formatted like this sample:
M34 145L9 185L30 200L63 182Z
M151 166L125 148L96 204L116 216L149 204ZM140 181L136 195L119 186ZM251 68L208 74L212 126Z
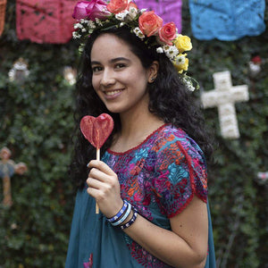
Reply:
M74 36L90 37L77 90L71 176L79 190L65 267L215 267L205 164L212 146L178 73L186 66L180 46L171 48L178 34L161 33L160 17L128 1L82 1L74 16L82 19ZM101 113L114 129L96 161L79 125Z

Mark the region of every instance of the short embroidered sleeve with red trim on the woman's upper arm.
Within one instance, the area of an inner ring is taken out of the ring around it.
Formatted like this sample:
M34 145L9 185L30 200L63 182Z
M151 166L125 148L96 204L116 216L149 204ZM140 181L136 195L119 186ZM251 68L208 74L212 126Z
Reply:
M194 195L206 203L205 157L197 143L188 137L178 138L172 134L156 147L152 186L161 212L169 218L179 214Z

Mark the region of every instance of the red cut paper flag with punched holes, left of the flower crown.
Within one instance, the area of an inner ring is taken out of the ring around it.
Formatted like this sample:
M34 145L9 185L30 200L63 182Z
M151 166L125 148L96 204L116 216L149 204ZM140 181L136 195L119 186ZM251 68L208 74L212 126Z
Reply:
M77 0L17 0L19 39L35 43L64 44L71 40L71 17Z

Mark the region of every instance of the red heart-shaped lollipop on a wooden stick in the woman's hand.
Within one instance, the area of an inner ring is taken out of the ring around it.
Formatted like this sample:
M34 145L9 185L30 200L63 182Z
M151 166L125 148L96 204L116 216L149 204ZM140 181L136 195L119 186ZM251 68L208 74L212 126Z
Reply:
M102 113L98 117L86 115L80 121L80 130L90 144L96 147L96 160L100 160L100 148L113 131L113 118L107 113Z

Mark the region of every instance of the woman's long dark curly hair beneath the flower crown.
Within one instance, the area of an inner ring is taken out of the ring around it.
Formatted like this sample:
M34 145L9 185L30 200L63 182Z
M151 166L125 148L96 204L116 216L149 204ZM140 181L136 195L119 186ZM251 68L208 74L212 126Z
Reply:
M133 54L140 59L145 69L149 68L154 61L158 61L159 70L153 83L148 83L149 105L148 109L166 123L185 130L189 137L193 138L204 151L206 160L211 158L213 147L211 138L205 130L202 113L195 100L185 87L171 61L164 54L155 50L154 44L145 44L130 29L121 27L102 31L95 31L84 47L81 56L81 65L76 89L76 108L74 113L75 130L73 134L74 151L72 155L70 174L77 187L82 187L88 178L87 163L96 159L96 148L92 147L80 131L80 120L85 115L98 116L101 113L109 113L113 117L114 129L110 138L102 147L102 153L111 146L114 133L121 130L119 114L107 110L101 99L96 95L92 87L92 70L90 54L92 46L100 35L113 34L121 38L130 46ZM107 49L109 46L107 45Z

